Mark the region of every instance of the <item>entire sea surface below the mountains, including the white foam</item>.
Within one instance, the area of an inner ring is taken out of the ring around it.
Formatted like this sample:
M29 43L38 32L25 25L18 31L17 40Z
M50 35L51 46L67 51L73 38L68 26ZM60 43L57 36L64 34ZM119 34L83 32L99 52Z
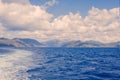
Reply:
M120 49L1 48L0 80L120 80Z

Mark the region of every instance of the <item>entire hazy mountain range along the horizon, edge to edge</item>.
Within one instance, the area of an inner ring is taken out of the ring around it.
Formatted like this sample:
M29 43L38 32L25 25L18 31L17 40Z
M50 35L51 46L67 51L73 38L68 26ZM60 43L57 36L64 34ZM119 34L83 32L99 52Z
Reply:
M39 42L30 38L0 38L0 47L120 47L120 41L112 43L102 43L98 41L60 41L51 40Z

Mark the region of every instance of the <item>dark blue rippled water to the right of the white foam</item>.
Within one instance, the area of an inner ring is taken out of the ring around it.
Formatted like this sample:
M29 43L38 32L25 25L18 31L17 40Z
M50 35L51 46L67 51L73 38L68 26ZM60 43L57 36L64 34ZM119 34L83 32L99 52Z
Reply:
M30 80L119 80L118 48L32 48Z

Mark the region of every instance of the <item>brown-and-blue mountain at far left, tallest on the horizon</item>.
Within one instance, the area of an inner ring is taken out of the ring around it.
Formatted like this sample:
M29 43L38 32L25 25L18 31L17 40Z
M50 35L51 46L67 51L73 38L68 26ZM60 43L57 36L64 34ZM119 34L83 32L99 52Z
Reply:
M41 47L40 42L29 38L0 38L0 47Z

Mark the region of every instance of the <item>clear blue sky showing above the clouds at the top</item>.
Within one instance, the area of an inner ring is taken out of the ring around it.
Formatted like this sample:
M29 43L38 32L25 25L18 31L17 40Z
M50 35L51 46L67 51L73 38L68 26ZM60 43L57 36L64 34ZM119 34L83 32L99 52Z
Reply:
M30 0L33 5L42 5L50 0ZM47 9L55 16L65 15L69 12L80 14L84 17L92 7L111 9L119 6L119 0L57 0L57 4Z

